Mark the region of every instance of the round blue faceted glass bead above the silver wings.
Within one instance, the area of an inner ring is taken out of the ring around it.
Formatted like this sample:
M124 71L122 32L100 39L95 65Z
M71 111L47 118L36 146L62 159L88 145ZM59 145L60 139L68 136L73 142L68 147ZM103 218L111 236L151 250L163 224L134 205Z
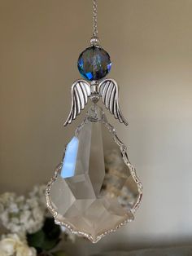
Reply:
M111 70L111 60L107 51L99 46L89 46L81 52L77 66L81 76L89 81L97 81L107 76Z

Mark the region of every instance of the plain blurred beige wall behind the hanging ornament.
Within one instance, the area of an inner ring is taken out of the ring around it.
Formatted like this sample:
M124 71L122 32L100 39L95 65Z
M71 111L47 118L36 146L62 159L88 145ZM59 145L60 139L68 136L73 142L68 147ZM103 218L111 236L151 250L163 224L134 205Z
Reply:
M63 130L91 8L89 0L0 1L1 192L45 182L61 159L78 123ZM98 1L99 37L129 128L109 119L129 145L144 197L133 223L86 251L192 241L191 28L191 0Z

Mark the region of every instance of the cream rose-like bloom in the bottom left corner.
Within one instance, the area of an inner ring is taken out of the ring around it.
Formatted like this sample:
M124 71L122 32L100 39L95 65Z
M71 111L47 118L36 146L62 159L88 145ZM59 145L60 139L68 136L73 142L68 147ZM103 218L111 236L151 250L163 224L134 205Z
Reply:
M26 241L21 241L17 234L9 234L0 241L1 256L36 256L36 250L28 247Z

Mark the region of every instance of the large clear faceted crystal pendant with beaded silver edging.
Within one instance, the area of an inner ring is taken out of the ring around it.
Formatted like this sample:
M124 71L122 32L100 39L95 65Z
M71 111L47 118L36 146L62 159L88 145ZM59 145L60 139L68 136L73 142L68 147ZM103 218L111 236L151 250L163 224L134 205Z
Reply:
M104 160L102 126L122 156L114 168ZM102 108L90 107L47 185L46 201L55 222L97 242L133 220L141 197L142 183L128 160L124 143Z

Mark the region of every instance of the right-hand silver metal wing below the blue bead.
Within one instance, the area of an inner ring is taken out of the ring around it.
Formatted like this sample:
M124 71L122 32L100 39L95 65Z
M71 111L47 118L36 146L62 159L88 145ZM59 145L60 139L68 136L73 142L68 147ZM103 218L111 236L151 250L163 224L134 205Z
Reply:
M103 80L98 85L98 91L106 108L109 109L111 114L113 114L114 117L120 121L120 123L123 122L124 125L127 126L128 122L125 120L120 111L119 89L116 81L110 78Z

